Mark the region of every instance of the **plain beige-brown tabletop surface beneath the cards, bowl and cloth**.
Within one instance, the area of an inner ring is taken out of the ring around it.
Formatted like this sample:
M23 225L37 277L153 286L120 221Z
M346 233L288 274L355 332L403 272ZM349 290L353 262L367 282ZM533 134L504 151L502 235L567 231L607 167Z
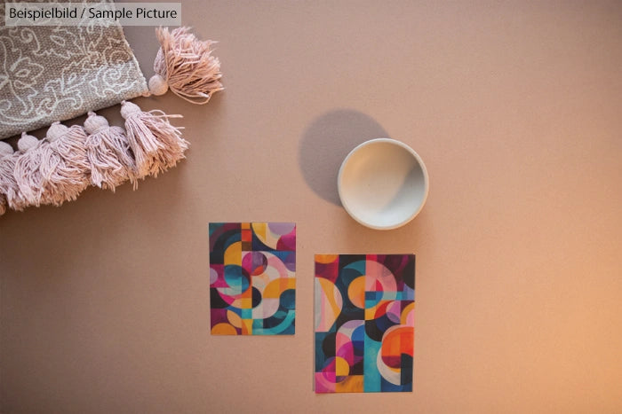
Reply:
M227 90L187 160L0 218L3 412L622 412L622 3L190 2ZM152 27L128 27L146 75ZM119 123L118 107L103 112ZM82 121L82 120L77 120ZM367 138L427 206L336 201ZM209 334L210 221L298 223L293 337ZM417 254L414 392L315 395L313 254Z

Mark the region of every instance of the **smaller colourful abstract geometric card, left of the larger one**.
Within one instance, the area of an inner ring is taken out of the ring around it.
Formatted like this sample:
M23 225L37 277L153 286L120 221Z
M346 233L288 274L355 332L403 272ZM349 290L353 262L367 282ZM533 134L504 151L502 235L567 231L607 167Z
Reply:
M292 335L296 224L210 223L212 335Z

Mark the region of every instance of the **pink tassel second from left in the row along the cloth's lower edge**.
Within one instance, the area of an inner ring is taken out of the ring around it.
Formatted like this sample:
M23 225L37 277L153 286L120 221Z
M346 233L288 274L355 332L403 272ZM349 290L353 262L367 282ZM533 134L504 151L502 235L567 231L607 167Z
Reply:
M22 210L27 206L39 207L42 204L45 177L49 176L52 168L60 163L60 157L54 156L47 140L39 141L25 132L21 134L17 146L19 153L14 164L13 176L18 185L19 197L15 206L11 205L11 199L7 197L9 207L14 210Z

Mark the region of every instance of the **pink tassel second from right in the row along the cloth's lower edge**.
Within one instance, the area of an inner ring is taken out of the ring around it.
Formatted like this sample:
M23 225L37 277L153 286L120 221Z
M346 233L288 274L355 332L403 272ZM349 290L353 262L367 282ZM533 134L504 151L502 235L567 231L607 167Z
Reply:
M86 155L91 164L91 183L115 192L116 186L130 180L136 189L136 163L130 143L121 127L109 126L103 116L90 112L84 121Z

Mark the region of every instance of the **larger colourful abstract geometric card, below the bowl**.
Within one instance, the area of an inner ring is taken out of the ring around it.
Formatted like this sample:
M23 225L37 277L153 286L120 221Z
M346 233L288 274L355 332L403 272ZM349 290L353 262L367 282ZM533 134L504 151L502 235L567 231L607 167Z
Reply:
M412 391L414 254L315 255L315 393Z

